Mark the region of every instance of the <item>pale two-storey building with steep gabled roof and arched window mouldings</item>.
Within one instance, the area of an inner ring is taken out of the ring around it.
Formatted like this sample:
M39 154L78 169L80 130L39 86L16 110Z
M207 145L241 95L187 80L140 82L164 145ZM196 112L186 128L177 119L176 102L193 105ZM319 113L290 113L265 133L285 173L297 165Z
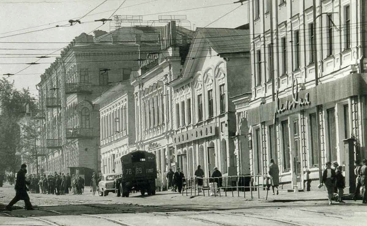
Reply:
M186 177L245 174L235 152L235 106L229 97L250 91L249 30L198 28L174 89L172 110L177 165ZM248 156L244 155L244 156ZM248 168L248 167L247 167Z

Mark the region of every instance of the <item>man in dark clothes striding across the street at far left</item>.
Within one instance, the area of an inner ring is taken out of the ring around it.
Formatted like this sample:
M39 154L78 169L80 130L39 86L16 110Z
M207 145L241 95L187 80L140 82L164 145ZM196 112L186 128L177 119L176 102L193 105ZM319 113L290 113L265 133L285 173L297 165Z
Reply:
M28 188L26 184L29 185L30 183L25 180L25 174L27 173L26 168L27 165L22 164L21 169L18 171L17 180L15 181L15 197L5 207L5 210L11 211L11 207L19 200L24 200L26 210L34 210L27 193Z

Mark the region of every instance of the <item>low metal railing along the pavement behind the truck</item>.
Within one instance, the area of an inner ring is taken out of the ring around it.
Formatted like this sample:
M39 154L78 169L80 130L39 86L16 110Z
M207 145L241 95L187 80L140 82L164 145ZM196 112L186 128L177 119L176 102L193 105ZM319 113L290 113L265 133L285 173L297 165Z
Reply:
M232 197L240 197L240 190L243 190L243 197L246 198L246 190L250 192L251 199L254 198L254 192L257 191L260 198L260 189L266 189L266 200L268 199L268 187L266 185L267 175L247 175L247 176L224 176L224 177L184 177L182 178L183 192L186 196L200 195L227 196L227 193L232 193ZM245 178L249 178L250 186L245 186ZM262 183L260 183L262 181ZM224 185L224 186L223 186ZM221 191L223 190L223 191ZM234 192L237 191L237 192ZM242 191L241 191L242 192ZM242 196L242 194L241 194Z

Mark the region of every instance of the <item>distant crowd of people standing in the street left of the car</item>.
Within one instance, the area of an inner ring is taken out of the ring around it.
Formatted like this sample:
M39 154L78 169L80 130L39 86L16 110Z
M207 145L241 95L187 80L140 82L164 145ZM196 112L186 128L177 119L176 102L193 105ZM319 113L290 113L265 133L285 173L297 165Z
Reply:
M57 173L54 175L30 174L26 177L29 181L28 189L30 193L65 195L72 192L73 195L81 195L84 192L84 178L69 173Z

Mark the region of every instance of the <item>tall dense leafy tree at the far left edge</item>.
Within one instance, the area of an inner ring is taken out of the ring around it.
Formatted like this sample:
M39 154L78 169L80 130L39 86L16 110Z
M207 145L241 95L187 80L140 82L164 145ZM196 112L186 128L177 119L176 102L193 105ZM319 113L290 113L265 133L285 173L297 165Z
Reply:
M17 90L14 82L0 80L0 172L16 172L20 159L16 155L19 147L20 128L17 122L25 116L25 105L29 110L37 109L28 89Z

